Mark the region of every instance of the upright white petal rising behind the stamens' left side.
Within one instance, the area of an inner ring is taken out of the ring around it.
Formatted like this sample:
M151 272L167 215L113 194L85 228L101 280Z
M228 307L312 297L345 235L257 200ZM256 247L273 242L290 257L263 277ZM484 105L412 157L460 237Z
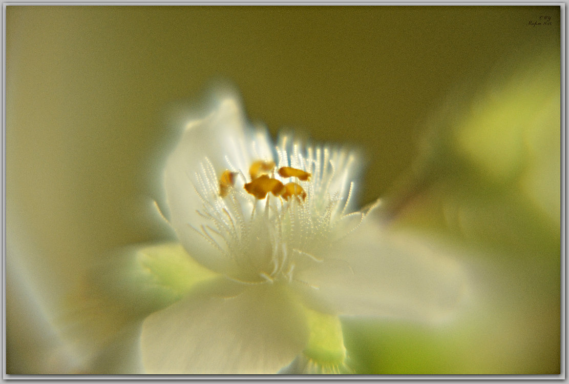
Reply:
M272 160L269 137L266 132L249 127L235 99L218 101L215 110L204 119L188 123L183 136L170 155L165 171L165 186L170 223L174 227L180 242L199 263L218 272L229 267L227 260L216 252L200 230L201 224L208 224L197 210L203 210L203 201L196 193L201 189L196 173L201 172L206 157L213 165L217 176L230 168L247 170L251 161L259 157ZM206 188L205 199L215 199L218 186ZM191 225L190 225L191 224ZM193 226L193 228L192 228Z

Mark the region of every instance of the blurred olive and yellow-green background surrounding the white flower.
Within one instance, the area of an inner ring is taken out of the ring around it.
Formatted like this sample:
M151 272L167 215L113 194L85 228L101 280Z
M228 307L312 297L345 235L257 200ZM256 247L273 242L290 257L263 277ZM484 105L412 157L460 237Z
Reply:
M362 205L461 250L477 304L344 320L357 373L559 373L560 70L559 6L7 6L7 373L124 371L120 305L65 315L101 255L170 236L148 203L219 84L360 149Z

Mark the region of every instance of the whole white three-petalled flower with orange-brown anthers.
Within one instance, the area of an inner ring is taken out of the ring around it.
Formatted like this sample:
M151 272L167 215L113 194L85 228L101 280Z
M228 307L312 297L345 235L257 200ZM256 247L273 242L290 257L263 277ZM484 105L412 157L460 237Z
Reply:
M169 221L218 277L145 320L146 371L276 373L307 346L307 308L427 320L452 309L458 268L388 240L377 204L354 210L358 167L343 149L271 145L231 97L189 122L166 165Z

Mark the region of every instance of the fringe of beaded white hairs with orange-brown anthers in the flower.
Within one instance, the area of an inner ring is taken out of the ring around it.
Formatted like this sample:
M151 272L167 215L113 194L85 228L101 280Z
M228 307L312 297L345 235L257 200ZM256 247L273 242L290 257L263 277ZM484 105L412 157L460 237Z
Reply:
M351 157L343 152L331 156L325 148L308 148L305 157L296 146L291 157L284 149L277 147L277 152L278 166L255 160L247 175L228 159L229 169L216 170L207 158L196 173L195 189L203 203L198 213L206 223L192 228L226 256L219 269L230 279L295 280L295 271L323 261L338 237L340 221L356 215L349 220L353 230L364 217L345 214L352 194L352 183L345 188L347 171L337 186L336 166L349 165Z

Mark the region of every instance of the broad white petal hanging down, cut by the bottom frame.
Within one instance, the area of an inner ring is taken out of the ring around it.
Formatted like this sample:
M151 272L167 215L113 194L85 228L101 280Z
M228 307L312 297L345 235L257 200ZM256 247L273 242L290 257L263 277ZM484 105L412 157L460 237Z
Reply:
M282 287L261 284L223 296L208 288L145 320L147 373L272 374L302 352L306 318Z

